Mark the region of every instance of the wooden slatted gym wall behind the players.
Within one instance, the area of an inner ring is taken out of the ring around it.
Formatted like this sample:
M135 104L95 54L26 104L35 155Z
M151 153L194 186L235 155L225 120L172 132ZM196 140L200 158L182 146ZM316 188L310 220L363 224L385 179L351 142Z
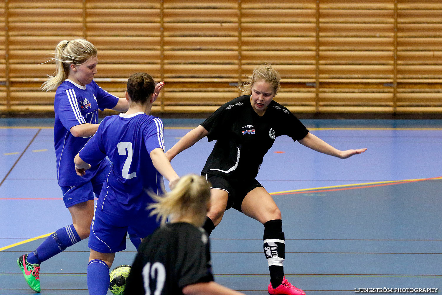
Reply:
M95 80L166 87L154 111L213 111L256 65L282 76L295 112L442 113L441 0L5 0L0 110L53 110L42 92L57 42L99 50Z

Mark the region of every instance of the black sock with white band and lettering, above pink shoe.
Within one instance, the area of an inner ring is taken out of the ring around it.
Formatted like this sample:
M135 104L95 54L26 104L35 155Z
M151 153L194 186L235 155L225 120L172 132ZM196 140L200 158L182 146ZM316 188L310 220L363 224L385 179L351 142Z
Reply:
M282 232L282 220L275 219L264 223L264 254L270 271L270 283L278 287L284 279L285 239Z

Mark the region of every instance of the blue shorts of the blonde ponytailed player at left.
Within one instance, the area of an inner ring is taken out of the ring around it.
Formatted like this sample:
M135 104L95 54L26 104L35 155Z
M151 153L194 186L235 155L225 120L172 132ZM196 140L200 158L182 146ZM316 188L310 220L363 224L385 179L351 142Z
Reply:
M110 162L107 161L107 163L109 164L99 167L91 181L78 185L60 187L63 192L63 201L65 202L66 208L87 202L88 200L93 200L94 192L97 197L100 195L101 188L103 188L103 182L110 172Z

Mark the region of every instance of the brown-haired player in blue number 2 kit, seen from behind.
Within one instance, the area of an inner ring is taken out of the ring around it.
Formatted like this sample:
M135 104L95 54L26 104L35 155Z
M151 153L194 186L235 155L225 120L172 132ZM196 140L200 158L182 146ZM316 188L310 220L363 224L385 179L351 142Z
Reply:
M129 110L104 118L74 160L79 176L105 157L112 162L91 223L89 294L107 293L109 268L115 253L126 249L128 229L145 238L159 226L146 209L153 202L149 193L163 193L163 176L171 188L179 180L164 154L163 123L149 115L157 97L154 91L150 75L131 75L125 92Z

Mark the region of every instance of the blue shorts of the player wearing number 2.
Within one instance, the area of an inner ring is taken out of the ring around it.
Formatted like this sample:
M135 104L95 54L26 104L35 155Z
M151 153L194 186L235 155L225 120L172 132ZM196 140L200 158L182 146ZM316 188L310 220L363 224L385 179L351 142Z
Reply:
M150 211L129 212L125 216L107 214L95 207L91 223L88 247L100 253L115 253L126 249L128 228L138 237L145 238L152 234L160 222L156 215L149 216Z

